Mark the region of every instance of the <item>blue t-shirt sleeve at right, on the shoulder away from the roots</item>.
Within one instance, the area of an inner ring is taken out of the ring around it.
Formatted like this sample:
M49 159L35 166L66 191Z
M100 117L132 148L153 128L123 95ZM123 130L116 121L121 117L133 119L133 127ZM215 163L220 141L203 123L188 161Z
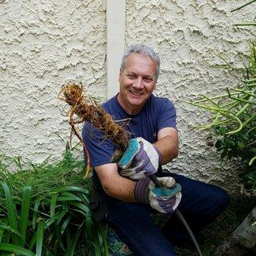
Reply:
M162 99L161 104L159 104L159 117L157 120L157 132L160 129L166 127L172 127L177 129L176 127L176 110L174 104L168 99Z

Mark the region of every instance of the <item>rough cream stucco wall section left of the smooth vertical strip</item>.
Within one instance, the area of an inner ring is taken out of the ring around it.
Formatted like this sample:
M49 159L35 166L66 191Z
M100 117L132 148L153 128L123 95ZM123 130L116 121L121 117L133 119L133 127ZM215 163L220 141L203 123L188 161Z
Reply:
M70 134L57 99L67 81L105 99L106 15L102 0L0 4L0 149L24 161L60 157Z

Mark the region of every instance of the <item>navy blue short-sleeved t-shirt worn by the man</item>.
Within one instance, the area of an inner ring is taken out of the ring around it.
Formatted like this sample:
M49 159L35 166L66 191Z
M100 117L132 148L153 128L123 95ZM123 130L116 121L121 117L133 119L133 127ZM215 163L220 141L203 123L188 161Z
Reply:
M130 138L142 137L150 143L157 141L157 132L165 127L176 129L176 110L174 104L166 98L150 96L141 111L136 115L127 114L118 102L117 95L102 104L104 110L116 121L123 121ZM121 124L121 123L118 123ZM102 132L95 129L88 121L82 130L82 139L90 154L91 166L110 163L116 146L104 139Z

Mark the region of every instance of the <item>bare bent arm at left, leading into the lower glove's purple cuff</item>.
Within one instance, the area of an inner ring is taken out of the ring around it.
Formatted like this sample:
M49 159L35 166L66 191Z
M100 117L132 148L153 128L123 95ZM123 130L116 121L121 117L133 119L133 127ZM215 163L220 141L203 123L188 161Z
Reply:
M124 202L136 202L134 197L136 182L121 177L118 174L116 163L95 166L94 169L98 174L102 183L102 188L107 195Z

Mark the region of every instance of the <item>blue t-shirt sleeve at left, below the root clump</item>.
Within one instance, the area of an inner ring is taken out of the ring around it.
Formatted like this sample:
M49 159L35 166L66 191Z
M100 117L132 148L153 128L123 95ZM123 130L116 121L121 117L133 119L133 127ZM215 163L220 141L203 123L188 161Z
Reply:
M90 154L91 166L102 166L110 163L110 158L115 151L113 143L105 139L103 133L88 121L85 122L82 129L82 140Z

